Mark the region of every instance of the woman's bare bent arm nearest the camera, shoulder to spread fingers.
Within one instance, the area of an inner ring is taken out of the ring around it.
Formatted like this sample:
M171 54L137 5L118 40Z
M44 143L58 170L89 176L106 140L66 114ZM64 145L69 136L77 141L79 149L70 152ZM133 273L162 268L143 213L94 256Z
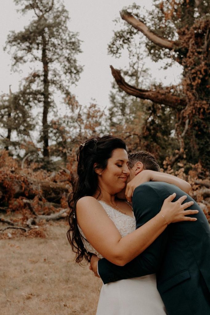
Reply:
M185 196L171 202L175 195L170 195L164 201L161 211L156 216L123 238L101 204L93 197L87 196L78 200L77 222L88 242L103 257L123 266L142 253L165 230L167 223L196 221L195 218L185 216L196 214L196 210L184 211L193 203L181 205ZM154 204L158 204L159 196L153 198L154 200L156 198Z

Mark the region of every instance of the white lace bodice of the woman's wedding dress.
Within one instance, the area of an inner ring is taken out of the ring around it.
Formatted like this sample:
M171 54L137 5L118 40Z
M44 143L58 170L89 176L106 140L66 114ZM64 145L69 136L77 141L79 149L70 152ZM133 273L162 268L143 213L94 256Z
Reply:
M99 200L99 203L102 205L102 207L105 209L107 215L110 217L110 219L114 222L117 230L120 232L120 235L126 236L127 234L135 231L136 229L136 220L133 215L133 218L129 215L125 215L124 213L119 212L118 210L112 208L104 201ZM84 233L82 232L81 228L78 226L79 232L82 235L82 242L84 244L85 249L97 255L100 259L103 258L102 255L100 255L93 246L90 245L90 243L85 238Z

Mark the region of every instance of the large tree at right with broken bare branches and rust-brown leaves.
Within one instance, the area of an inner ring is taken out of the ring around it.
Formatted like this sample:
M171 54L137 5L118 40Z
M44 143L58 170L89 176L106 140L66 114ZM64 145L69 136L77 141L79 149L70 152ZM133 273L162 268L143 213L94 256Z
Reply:
M115 32L109 50L113 55L144 34L146 49L152 60L167 58L167 66L178 62L183 67L180 86L142 89L125 81L119 70L111 67L118 86L140 99L151 100L170 109L177 116L176 134L179 153L191 163L201 161L210 166L209 100L210 100L210 3L208 1L154 0L155 10L146 17L133 4L121 11L125 21ZM147 25L150 25L148 27Z

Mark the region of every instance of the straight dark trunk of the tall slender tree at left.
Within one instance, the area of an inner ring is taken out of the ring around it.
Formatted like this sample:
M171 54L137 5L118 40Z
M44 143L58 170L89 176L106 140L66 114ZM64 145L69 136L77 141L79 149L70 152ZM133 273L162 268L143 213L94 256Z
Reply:
M43 40L43 49L42 49L42 63L43 63L43 85L44 85L44 104L43 104L43 117L42 117L42 126L43 126L43 156L46 159L46 162L49 160L49 143L48 143L48 110L50 107L49 102L49 79L48 79L48 59L46 54L46 38L42 35Z

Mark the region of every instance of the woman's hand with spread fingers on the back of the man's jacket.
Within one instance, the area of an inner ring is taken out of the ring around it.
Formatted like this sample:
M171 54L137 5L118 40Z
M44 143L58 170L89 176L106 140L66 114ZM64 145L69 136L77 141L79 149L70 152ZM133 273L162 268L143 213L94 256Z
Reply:
M196 221L196 218L186 217L186 215L195 215L199 212L198 210L184 210L192 206L194 202L190 201L182 204L187 196L182 196L177 201L172 202L175 197L174 192L173 195L166 198L160 211L167 224L180 221Z

